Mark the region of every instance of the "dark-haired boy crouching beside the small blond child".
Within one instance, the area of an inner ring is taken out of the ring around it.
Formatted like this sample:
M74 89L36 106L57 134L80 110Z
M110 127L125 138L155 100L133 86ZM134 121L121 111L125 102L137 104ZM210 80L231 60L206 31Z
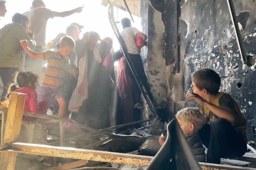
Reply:
M207 151L207 163L220 164L221 158L243 156L247 150L246 120L234 99L219 92L220 76L211 69L200 69L192 75L194 99L210 119L198 132Z

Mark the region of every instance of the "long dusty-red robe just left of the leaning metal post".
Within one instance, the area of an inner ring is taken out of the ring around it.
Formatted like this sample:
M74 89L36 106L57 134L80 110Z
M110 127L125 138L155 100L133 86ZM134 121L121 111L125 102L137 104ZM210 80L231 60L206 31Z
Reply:
M132 98L132 83L131 79L125 71L125 58L122 57L119 60L120 73L118 76L118 92L120 97L120 104L122 107L122 118L124 123L130 123L134 121L133 118L133 98Z

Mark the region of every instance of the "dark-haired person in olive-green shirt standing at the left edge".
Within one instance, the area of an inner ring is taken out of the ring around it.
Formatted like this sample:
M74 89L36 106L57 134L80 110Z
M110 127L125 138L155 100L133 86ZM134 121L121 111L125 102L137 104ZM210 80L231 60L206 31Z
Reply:
M0 101L5 100L15 72L25 69L25 51L21 48L20 41L27 40L32 50L36 47L34 33L27 32L28 17L15 13L11 20L12 23L0 29L0 77L4 86Z

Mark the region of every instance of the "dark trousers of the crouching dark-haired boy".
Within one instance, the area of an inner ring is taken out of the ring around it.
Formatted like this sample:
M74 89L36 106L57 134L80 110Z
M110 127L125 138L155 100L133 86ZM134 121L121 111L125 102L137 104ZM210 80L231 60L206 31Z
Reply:
M216 118L211 125L205 124L198 132L207 150L207 163L220 164L221 158L243 156L247 151L243 135L236 132L229 121Z

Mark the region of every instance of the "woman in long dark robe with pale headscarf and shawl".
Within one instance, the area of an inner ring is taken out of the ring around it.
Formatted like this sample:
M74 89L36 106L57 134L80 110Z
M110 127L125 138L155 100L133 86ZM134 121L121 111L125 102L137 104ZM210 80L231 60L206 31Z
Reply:
M99 40L97 33L87 32L76 43L79 75L69 103L69 111L75 121L97 129L109 127L109 108L104 100L107 98L103 66L106 43L99 44L98 50Z

